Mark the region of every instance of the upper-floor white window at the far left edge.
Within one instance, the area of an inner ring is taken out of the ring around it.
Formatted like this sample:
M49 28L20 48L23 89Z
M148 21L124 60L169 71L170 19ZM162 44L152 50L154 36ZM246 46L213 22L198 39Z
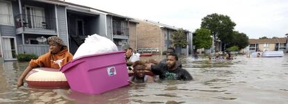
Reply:
M0 24L13 25L11 2L0 0Z

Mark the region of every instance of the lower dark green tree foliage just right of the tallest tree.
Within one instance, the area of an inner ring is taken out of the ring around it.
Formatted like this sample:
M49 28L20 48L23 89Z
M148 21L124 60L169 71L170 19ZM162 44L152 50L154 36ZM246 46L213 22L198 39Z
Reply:
M238 31L233 32L233 39L231 44L228 46L238 46L239 49L244 49L246 46L249 45L248 42L249 38L245 33L239 33Z

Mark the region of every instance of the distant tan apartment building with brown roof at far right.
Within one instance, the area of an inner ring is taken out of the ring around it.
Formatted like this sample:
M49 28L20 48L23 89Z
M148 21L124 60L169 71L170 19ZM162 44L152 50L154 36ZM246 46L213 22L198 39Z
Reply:
M246 51L285 51L287 45L287 38L272 38L272 39L249 39L249 45Z

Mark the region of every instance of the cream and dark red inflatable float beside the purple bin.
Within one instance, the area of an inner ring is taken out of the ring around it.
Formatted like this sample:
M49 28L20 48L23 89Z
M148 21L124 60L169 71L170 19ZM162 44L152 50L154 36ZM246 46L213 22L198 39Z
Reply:
M26 76L29 87L68 88L67 79L59 69L40 67L32 69Z

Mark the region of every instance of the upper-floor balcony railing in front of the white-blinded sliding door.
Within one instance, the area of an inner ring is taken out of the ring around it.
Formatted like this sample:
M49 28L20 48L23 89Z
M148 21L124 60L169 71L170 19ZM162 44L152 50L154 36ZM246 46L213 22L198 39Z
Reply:
M56 30L56 19L49 17L40 17L35 15L16 15L15 16L15 26L16 28L38 28L38 29L48 29ZM23 22L23 25L22 25Z

